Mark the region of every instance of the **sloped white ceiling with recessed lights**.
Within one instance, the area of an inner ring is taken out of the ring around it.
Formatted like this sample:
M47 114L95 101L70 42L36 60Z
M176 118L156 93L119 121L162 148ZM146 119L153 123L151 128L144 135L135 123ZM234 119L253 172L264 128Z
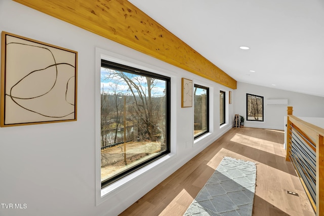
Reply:
M129 2L237 81L324 97L324 0Z

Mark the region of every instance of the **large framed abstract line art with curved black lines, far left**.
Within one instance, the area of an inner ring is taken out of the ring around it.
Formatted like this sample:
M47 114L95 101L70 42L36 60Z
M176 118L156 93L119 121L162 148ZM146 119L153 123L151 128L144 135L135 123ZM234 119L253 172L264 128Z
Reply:
M2 32L0 126L76 120L77 52Z

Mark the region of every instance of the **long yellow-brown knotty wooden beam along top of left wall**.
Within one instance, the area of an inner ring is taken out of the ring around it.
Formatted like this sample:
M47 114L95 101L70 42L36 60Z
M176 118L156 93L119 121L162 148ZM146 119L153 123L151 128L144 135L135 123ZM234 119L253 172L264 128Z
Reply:
M13 0L199 76L236 80L126 0Z

